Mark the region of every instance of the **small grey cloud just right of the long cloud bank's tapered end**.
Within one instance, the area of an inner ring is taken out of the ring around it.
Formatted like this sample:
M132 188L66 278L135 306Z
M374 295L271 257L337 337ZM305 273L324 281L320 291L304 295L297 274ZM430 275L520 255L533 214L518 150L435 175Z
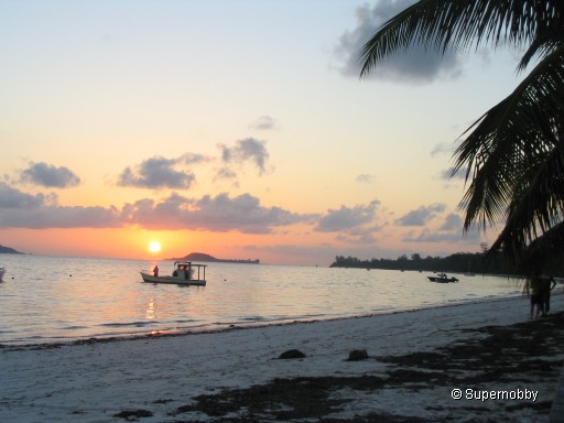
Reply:
M340 206L339 209L329 209L317 221L315 230L321 232L336 232L351 230L355 227L369 224L376 218L376 209L380 205L378 199L370 204L355 207Z

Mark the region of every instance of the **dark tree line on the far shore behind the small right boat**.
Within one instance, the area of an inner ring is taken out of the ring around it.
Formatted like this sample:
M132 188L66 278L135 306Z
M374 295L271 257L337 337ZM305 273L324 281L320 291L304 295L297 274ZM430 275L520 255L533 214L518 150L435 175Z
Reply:
M414 253L411 258L406 254L398 259L361 260L356 257L335 257L330 268L360 268L360 269L386 269L406 270L425 272L453 272L453 273L489 273L519 275L517 267L501 253L490 253L486 259L486 252L457 252L447 257L421 257ZM546 268L546 272L555 276L564 275L564 264L553 262Z

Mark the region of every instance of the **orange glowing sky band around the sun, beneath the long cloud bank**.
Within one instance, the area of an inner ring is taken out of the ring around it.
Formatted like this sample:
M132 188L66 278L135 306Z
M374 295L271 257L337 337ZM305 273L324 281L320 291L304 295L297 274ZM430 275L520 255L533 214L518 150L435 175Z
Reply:
M149 260L152 265L161 260L183 258L192 252L203 252L218 259L254 260L268 264L329 264L336 253L326 258L297 257L304 246L329 243L329 235L318 237L311 232L297 235L240 234L237 231L209 232L198 230L148 230L135 226L124 228L68 228L68 229L3 229L1 243L23 253ZM149 245L160 243L153 252ZM278 249L276 246L281 246ZM284 249L289 247L290 251ZM302 246L302 247L300 247ZM294 251L295 250L295 251ZM294 251L294 253L292 253ZM303 256L303 254L302 254Z

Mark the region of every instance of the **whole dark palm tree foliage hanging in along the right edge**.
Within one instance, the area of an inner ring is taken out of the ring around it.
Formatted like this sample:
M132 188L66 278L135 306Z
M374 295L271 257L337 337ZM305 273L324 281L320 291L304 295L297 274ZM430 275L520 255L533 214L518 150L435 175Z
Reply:
M490 252L524 272L564 252L564 1L421 0L365 44L361 77L384 56L423 45L442 54L481 45L524 51L536 65L460 138L454 173L466 171L464 231L505 221Z

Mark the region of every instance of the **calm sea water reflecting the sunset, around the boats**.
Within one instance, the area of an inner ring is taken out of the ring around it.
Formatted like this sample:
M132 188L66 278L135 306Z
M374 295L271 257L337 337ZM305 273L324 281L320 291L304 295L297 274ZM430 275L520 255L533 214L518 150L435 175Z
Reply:
M40 344L153 332L392 313L520 295L500 276L433 283L426 274L366 269L209 263L207 286L144 283L169 261L0 254L0 344Z

